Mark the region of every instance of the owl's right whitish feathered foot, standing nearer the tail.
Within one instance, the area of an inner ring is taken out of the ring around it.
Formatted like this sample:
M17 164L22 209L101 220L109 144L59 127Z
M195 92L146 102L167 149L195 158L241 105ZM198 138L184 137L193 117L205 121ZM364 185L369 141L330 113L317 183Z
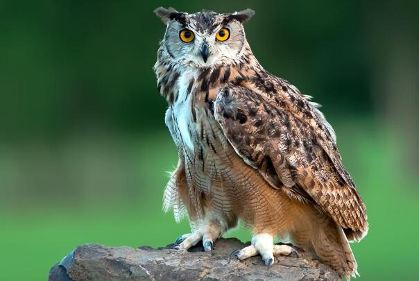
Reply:
M241 250L234 250L230 254L230 259L236 257L239 260L243 260L260 254L266 266L271 266L275 261L274 255L289 255L293 252L295 250L288 245L274 245L272 235L259 234L253 235L250 246Z

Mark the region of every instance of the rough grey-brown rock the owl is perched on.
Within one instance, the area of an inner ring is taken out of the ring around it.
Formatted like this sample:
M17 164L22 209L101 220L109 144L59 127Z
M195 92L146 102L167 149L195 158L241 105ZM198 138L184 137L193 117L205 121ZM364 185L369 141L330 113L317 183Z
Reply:
M233 250L248 244L234 238L219 239L212 253L203 252L200 244L189 252L171 249L173 244L158 249L87 244L53 266L49 280L340 280L329 267L311 260L302 250L298 255L275 257L269 269L259 255L228 262Z

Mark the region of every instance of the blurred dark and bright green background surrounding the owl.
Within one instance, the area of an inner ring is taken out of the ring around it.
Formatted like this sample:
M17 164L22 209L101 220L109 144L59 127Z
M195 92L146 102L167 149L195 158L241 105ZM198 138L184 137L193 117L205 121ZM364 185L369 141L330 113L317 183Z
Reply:
M256 11L255 56L323 104L366 202L359 279L415 279L418 1L377 0L0 1L0 279L46 280L79 244L189 232L162 212L177 150L151 70L157 6Z

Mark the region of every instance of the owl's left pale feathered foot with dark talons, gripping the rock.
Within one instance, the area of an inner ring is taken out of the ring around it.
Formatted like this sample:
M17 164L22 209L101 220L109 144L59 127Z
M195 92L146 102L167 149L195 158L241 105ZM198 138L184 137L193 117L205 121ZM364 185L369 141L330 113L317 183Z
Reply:
M178 239L176 239L172 248L187 250L202 240L205 251L214 250L214 241L219 239L221 235L222 232L220 225L211 222L207 225L201 226L198 230L192 233L181 235Z

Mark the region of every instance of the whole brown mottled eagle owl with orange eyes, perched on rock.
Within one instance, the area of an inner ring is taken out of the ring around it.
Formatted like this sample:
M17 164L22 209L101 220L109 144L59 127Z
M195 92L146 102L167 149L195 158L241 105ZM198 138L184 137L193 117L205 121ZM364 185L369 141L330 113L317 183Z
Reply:
M274 237L289 238L342 277L356 275L348 242L366 235L366 207L318 104L253 55L242 25L253 10L155 13L166 33L154 71L179 154L164 209L191 225L178 248L212 250L240 220L253 238L237 259L260 254L271 266L293 250Z

